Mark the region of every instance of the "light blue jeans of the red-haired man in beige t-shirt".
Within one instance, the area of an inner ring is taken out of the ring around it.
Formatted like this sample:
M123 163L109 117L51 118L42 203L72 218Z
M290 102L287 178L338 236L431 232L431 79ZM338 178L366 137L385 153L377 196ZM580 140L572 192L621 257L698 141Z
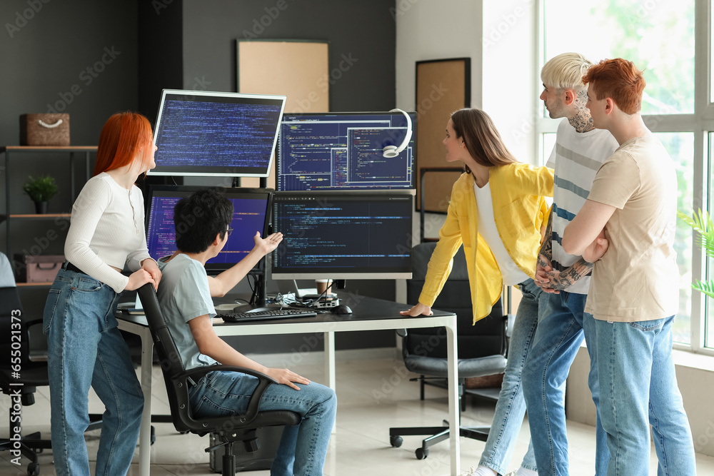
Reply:
M647 476L650 425L657 474L695 475L694 443L672 360L674 316L634 323L595 320L600 420L608 476Z

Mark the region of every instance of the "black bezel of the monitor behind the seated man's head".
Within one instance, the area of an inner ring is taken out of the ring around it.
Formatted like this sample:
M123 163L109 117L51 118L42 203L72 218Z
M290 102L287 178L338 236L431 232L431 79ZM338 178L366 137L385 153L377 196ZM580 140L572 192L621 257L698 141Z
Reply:
M146 213L145 213L145 229L146 229L146 240L147 240L147 245L149 242L149 218L150 218L150 211L151 211L151 205L153 203L153 198L154 198L154 193L156 191L168 191L168 192L188 192L192 193L195 191L199 190L205 190L206 188L211 188L218 193L228 195L226 198L231 198L230 195L245 195L245 198L250 198L251 195L258 195L258 194L267 194L268 195L268 200L267 200L267 208L266 208L266 217L265 221L263 223L263 230L261 230L261 236L265 237L270 233L271 231L271 221L273 217L273 189L272 188L242 188L242 187L206 187L206 186L195 186L195 185L149 185L149 194L148 194L148 200L146 203ZM240 231L234 231L233 233L240 233ZM175 233L175 232L174 232ZM152 258L154 258L152 256ZM159 256L159 258L162 258ZM156 258L158 259L158 258ZM217 274L221 273L222 271L225 271L229 268L231 268L235 263L206 263L204 268L206 268L206 273L208 274ZM264 273L266 268L266 258L263 257L261 260L258 261L258 264L253 266L251 269L251 273Z

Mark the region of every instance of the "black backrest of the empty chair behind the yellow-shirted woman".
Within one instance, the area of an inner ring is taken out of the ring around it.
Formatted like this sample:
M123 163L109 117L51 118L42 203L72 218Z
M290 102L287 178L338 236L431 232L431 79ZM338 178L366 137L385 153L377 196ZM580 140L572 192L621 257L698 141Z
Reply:
M426 278L429 259L436 248L436 242L421 243L412 250L413 271L407 281L407 299L416 303ZM506 355L506 325L503 319L503 305L498 300L491 314L473 323L471 307L471 285L468 283L466 255L463 247L453 258L451 274L446 280L433 308L457 315L458 357L478 358L484 355ZM446 358L446 338L439 338L438 329L409 330L403 349L405 352L422 353L428 351L430 357ZM434 335L437 335L434 337Z

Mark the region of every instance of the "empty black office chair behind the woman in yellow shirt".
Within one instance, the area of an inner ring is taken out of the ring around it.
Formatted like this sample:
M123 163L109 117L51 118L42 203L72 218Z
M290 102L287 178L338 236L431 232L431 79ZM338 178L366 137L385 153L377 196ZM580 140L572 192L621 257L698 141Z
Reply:
M407 282L407 299L416 303L426 277L426 269L436 248L436 243L421 243L412 250L413 273ZM451 275L444 284L433 307L446 310L457 315L457 345L458 345L458 397L459 410L463 410L464 383L466 378L484 377L503 373L506 369L506 353L508 350L508 323L513 317L503 313L503 305L499 300L493 306L491 314L472 324L471 288L466 271L466 258L463 248L458 250L453 258ZM410 329L402 331L402 354L407 370L418 373L421 385L421 400L424 399L424 385L429 378L443 379L447 376L448 360L446 358L447 343L444 328ZM445 424L448 424L446 420ZM489 427L459 426L459 434L463 437L486 441ZM390 428L389 442L393 447L402 445L402 435L430 435L426 437L421 447L416 450L416 457L423 460L429 454L428 448L449 437L448 427L405 427Z

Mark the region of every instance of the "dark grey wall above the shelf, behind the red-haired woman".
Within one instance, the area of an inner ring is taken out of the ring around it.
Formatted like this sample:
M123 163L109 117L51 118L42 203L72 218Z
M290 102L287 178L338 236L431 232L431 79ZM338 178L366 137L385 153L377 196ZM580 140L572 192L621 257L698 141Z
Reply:
M0 145L19 145L20 114L56 110L72 145L92 146L106 118L136 108L136 1L3 0L0 24Z

